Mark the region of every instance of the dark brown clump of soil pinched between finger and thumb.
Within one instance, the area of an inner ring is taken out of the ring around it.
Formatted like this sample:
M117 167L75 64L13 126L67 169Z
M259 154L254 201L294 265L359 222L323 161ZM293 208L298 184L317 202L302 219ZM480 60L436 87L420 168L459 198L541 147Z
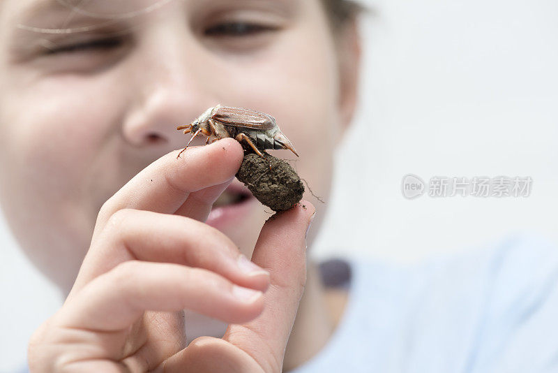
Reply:
M291 165L268 153L264 153L264 158L245 153L236 178L273 211L289 210L304 193L301 178Z

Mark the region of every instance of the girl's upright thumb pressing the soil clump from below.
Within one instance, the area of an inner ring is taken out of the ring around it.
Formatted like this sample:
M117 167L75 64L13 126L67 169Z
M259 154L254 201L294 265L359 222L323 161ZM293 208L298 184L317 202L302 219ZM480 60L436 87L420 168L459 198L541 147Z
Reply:
M306 233L315 207L301 200L291 210L264 224L252 261L268 270L271 284L264 294L264 311L257 319L231 324L223 339L238 346L264 368L281 372L287 341L306 284Z

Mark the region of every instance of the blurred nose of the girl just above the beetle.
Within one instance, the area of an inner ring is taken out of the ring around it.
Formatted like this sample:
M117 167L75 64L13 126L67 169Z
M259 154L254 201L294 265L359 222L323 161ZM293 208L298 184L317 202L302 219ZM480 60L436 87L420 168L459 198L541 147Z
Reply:
M211 89L200 78L199 67L204 65L188 55L188 42L181 34L174 30L144 41L129 61L133 64L130 108L122 134L134 147L165 151L183 147L187 138L176 127L190 124L215 105Z

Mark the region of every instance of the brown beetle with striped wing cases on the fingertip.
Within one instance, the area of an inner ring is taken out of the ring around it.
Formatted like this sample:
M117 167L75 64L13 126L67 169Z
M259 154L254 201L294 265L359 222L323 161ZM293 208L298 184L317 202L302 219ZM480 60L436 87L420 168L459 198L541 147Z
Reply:
M287 136L279 129L276 119L257 110L216 105L207 109L191 124L176 129L183 130L183 133L193 133L188 145L176 156L177 159L199 133L207 136L206 145L210 140L215 142L222 138L234 138L241 144L244 142L262 158L262 151L266 149L288 149L299 156Z

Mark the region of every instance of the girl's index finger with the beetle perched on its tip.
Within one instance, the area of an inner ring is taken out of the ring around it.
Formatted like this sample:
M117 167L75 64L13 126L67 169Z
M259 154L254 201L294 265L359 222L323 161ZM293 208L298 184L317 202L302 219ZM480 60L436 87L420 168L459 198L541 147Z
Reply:
M174 214L186 203L190 193L214 187L218 190L202 193L206 197L202 203L211 207L212 199L218 198L233 180L243 159L242 146L232 138L189 147L176 159L179 152L175 150L151 163L107 200L98 214L96 233L102 231L118 210L129 208ZM199 197L196 203L199 206ZM209 212L210 208L205 210Z

